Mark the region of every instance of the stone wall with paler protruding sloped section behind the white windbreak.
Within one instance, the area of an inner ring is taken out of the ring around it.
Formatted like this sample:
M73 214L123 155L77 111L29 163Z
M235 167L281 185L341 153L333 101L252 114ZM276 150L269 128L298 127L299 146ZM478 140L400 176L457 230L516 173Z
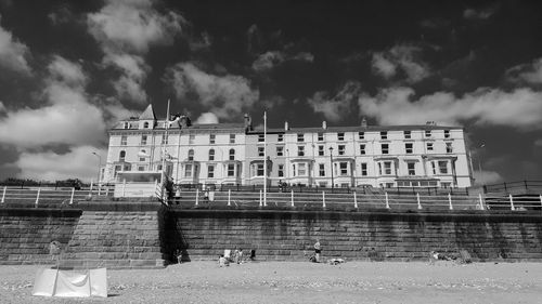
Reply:
M0 208L0 264L54 264L49 243L57 240L62 267L164 267L159 206L89 201L68 209Z

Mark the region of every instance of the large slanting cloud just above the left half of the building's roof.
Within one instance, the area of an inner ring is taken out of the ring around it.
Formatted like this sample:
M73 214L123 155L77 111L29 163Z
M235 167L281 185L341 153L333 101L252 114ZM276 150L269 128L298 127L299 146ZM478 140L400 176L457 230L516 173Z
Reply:
M168 80L179 100L191 101L220 119L235 119L259 98L259 91L250 88L248 79L235 75L210 75L191 63L169 68Z

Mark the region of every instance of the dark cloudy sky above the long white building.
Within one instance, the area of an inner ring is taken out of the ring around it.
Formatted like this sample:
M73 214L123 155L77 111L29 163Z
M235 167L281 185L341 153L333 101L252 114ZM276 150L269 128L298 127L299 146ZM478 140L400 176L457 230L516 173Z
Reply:
M463 125L477 177L542 180L540 3L0 0L0 180L95 176L112 123L168 98L199 122Z

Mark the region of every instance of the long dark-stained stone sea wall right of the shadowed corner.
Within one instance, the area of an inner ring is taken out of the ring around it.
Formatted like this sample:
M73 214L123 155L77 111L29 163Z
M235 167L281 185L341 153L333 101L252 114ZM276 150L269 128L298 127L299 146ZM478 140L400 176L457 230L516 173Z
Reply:
M326 257L427 261L429 251L467 250L474 261L542 261L542 216L519 213L172 211L170 248L184 260L216 259L224 249L256 250L259 260L302 261L317 239Z

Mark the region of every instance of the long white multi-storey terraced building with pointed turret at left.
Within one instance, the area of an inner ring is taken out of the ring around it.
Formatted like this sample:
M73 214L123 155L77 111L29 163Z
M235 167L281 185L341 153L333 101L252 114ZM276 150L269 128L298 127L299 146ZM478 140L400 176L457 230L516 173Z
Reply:
M166 128L168 127L168 128ZM158 120L149 106L109 131L103 182L119 172L165 172L177 184L322 187L469 187L464 130L366 125L255 130L243 123ZM267 161L264 160L267 156ZM267 166L268 179L264 179Z

